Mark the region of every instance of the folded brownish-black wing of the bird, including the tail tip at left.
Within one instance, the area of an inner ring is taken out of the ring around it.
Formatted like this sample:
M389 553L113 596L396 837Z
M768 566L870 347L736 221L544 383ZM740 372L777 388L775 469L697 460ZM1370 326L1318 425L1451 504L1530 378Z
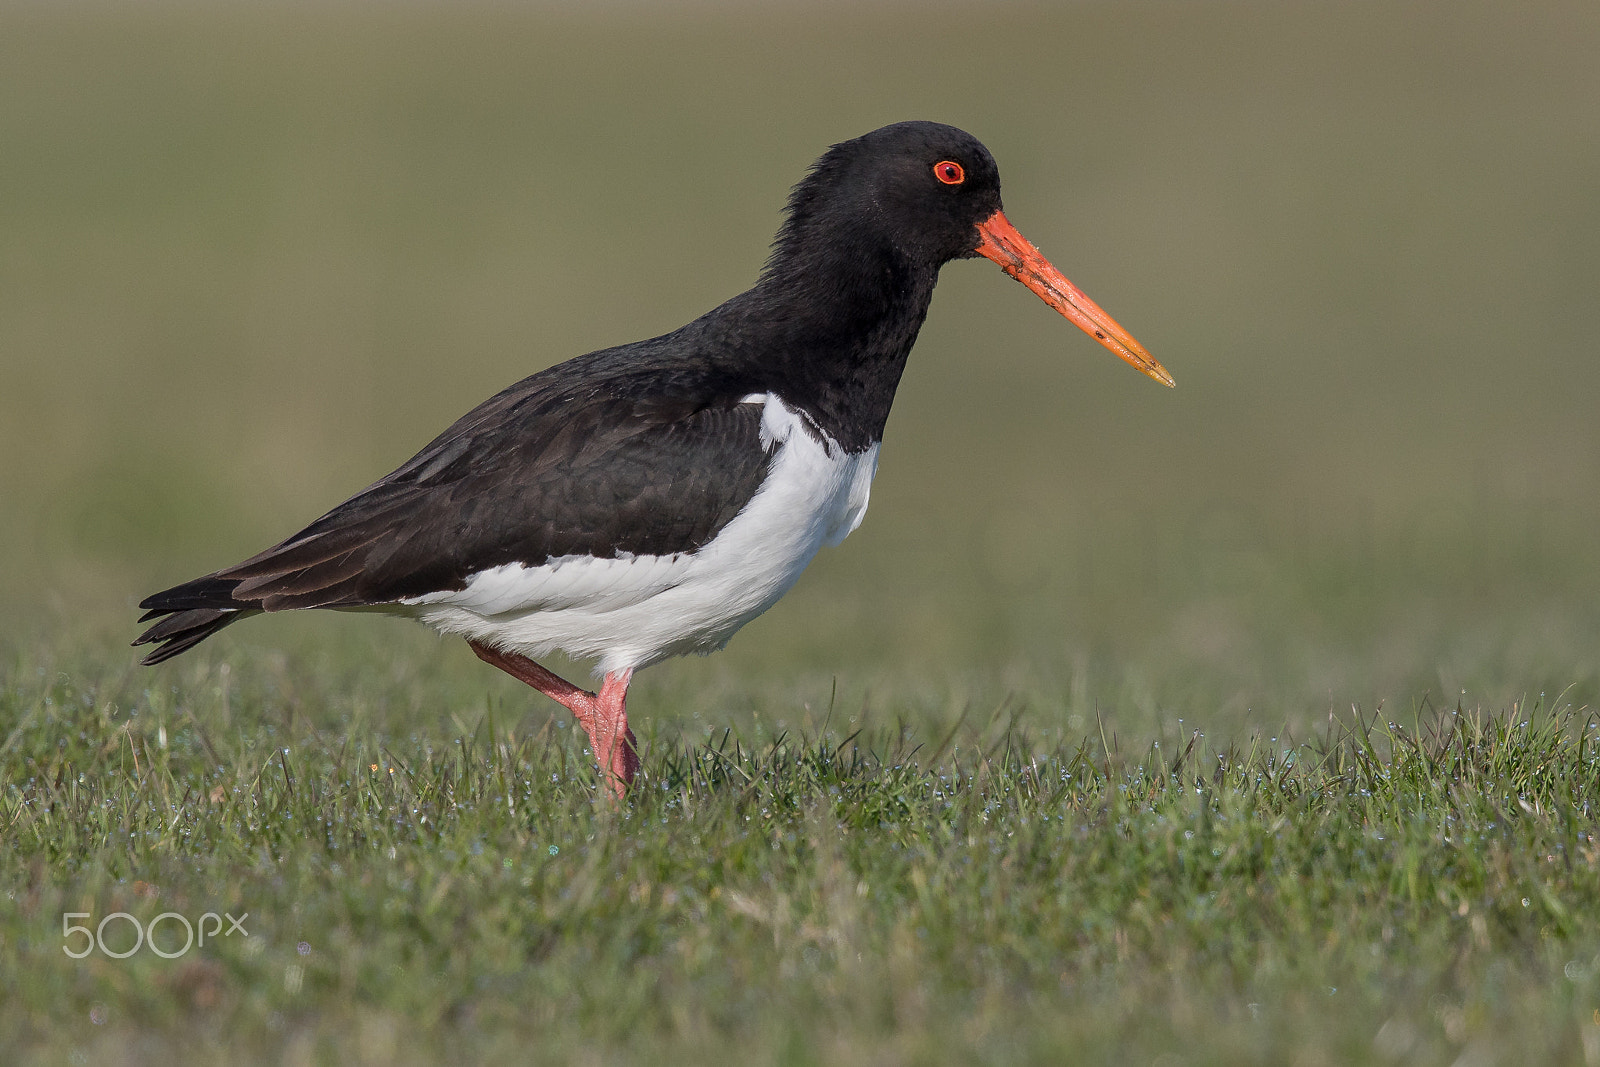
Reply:
M134 645L160 648L144 662L258 611L394 603L504 563L704 545L766 477L762 406L638 365L597 379L598 357L613 354L490 398L288 541L147 597L141 622L160 621Z

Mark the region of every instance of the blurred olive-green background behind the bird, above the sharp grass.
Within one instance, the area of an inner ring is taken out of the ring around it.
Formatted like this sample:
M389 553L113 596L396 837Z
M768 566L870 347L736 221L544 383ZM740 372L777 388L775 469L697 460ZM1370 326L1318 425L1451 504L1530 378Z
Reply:
M645 717L1594 702L1597 56L1587 0L0 8L8 659L134 670L141 595L746 288L824 147L938 118L1178 389L952 264L866 525ZM162 670L328 654L526 704L349 616Z

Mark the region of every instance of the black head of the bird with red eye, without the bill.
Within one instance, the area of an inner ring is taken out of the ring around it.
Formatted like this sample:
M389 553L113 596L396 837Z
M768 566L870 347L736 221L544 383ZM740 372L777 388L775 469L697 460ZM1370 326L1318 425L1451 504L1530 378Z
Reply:
M894 248L939 267L978 254L978 224L1000 210L1000 170L978 138L938 122L898 122L830 147L789 197L773 258L838 246Z

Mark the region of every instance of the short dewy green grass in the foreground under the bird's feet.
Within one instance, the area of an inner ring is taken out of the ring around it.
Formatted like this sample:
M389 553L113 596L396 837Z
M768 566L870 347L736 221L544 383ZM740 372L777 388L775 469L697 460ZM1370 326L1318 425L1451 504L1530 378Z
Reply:
M566 729L222 726L186 701L6 681L8 1048L1600 1054L1600 728L1568 705L1138 752L998 715L926 744L654 736L619 806ZM182 920L210 941L179 952Z

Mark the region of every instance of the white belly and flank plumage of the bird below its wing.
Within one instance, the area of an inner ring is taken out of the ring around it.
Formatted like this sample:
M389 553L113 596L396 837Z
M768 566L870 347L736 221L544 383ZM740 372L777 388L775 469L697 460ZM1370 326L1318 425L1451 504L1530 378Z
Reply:
M507 563L392 609L534 659L555 649L598 659L598 672L722 648L789 592L818 549L861 525L878 467L877 445L846 454L771 394L744 403L762 405L771 470L698 552Z

